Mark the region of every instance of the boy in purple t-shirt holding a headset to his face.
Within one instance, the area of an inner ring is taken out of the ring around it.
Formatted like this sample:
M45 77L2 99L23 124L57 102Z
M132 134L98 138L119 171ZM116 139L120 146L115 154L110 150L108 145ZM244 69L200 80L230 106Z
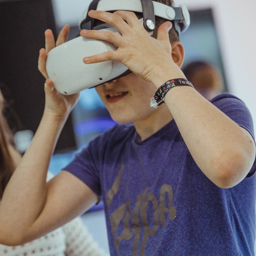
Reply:
M183 46L169 40L171 22L158 27L155 39L132 12L89 16L121 32L81 31L118 46L85 56L85 65L118 60L132 71L96 87L120 124L45 183L58 135L79 96L61 95L46 79L42 121L1 202L0 243L42 236L102 198L111 255L253 255L255 141L246 106L229 94L209 102L186 81ZM47 52L67 35L65 26L55 44L46 31L39 56L46 78ZM149 104L154 95L165 102L156 109Z

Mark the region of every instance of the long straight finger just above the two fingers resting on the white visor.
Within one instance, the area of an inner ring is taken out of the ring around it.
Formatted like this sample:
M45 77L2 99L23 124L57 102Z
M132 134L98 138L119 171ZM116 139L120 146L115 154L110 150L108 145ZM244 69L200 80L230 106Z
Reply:
M130 26L119 15L114 13L91 10L88 12L88 15L94 19L102 20L105 23L111 24L122 34L130 28Z

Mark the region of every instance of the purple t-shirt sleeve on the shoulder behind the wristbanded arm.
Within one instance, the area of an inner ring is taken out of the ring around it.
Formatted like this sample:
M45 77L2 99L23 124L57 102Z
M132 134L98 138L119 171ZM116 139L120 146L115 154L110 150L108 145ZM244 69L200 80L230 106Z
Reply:
M243 127L252 135L252 138L255 143L255 135L254 135L254 127L253 127L253 119L250 114L249 109L244 104L244 102L237 98L234 95L229 93L223 93L211 100L213 105L219 108L224 114L229 116L236 124L240 127ZM256 171L256 160L247 175L247 177L251 177Z

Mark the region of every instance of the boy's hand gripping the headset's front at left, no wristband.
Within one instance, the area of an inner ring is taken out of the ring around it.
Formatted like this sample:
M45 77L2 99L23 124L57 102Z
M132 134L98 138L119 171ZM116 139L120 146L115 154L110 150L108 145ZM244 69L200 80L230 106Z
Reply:
M47 29L45 31L45 48L40 49L38 59L38 69L46 78L45 113L54 114L55 116L58 116L60 118L66 118L69 115L79 99L79 93L73 95L63 95L55 89L52 80L48 78L46 72L46 59L47 54L50 52L50 50L66 42L66 40L68 39L69 29L69 25L65 25L62 30L60 30L56 42L52 30Z

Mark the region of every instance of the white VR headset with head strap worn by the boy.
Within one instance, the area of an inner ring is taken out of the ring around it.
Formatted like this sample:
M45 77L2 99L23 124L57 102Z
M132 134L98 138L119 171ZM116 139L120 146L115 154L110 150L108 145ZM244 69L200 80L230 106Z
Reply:
M127 10L142 14L144 28L152 34L155 28L155 16L174 21L178 34L188 29L190 15L184 5L170 7L152 0L93 0L82 14L80 29L102 29L117 32L110 24L95 26L95 20L88 16L89 10L113 12ZM55 88L62 94L73 94L86 88L112 81L131 71L118 61L105 61L85 64L85 56L96 55L117 48L103 40L76 37L53 48L47 56L46 71Z

